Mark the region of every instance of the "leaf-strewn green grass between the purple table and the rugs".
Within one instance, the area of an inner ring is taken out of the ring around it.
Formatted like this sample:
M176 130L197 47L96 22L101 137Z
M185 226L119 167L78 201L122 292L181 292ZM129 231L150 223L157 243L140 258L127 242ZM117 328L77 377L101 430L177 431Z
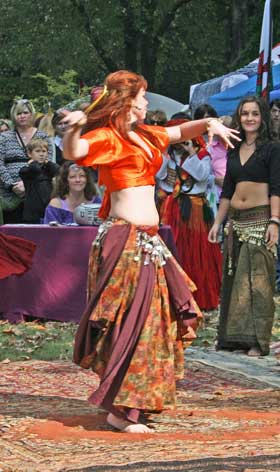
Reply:
M276 317L272 341L280 340L280 297L275 298ZM216 337L218 312L206 314L204 325L194 345L212 346ZM30 359L55 360L72 358L77 325L38 320L10 324L0 321L0 362Z

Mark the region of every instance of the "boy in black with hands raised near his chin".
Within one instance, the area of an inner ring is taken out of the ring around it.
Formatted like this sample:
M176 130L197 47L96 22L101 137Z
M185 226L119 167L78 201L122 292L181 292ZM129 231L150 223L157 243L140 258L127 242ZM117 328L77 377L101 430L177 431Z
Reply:
M41 223L45 208L53 190L53 178L59 166L48 161L48 142L44 139L33 139L26 146L30 160L20 169L24 182L25 200L23 221L29 224Z

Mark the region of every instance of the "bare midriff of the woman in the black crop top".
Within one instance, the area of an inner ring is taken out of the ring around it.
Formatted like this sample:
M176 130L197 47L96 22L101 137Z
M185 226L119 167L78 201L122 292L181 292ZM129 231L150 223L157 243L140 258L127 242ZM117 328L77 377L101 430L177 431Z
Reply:
M261 205L269 205L268 184L259 182L239 182L230 205L237 210L245 210Z

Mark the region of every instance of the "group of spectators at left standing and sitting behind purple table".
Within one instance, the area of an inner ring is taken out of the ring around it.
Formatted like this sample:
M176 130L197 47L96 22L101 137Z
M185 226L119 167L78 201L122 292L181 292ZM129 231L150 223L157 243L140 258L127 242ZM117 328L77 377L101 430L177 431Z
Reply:
M20 99L0 120L0 224L73 224L74 207L101 202L95 171L63 157L63 118Z

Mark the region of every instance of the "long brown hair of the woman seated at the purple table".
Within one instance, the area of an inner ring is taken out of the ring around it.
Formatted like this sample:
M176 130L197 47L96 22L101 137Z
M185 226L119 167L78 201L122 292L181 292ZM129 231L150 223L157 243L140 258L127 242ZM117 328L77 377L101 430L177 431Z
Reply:
M68 175L72 166L83 170L86 174L87 180L84 189L84 194L86 200L92 200L92 198L97 195L97 190L92 178L91 169L89 167L77 166L77 164L72 161L64 162L60 167L59 174L56 178L55 188L52 193L52 198L59 197L65 200L65 198L67 197L69 193Z

